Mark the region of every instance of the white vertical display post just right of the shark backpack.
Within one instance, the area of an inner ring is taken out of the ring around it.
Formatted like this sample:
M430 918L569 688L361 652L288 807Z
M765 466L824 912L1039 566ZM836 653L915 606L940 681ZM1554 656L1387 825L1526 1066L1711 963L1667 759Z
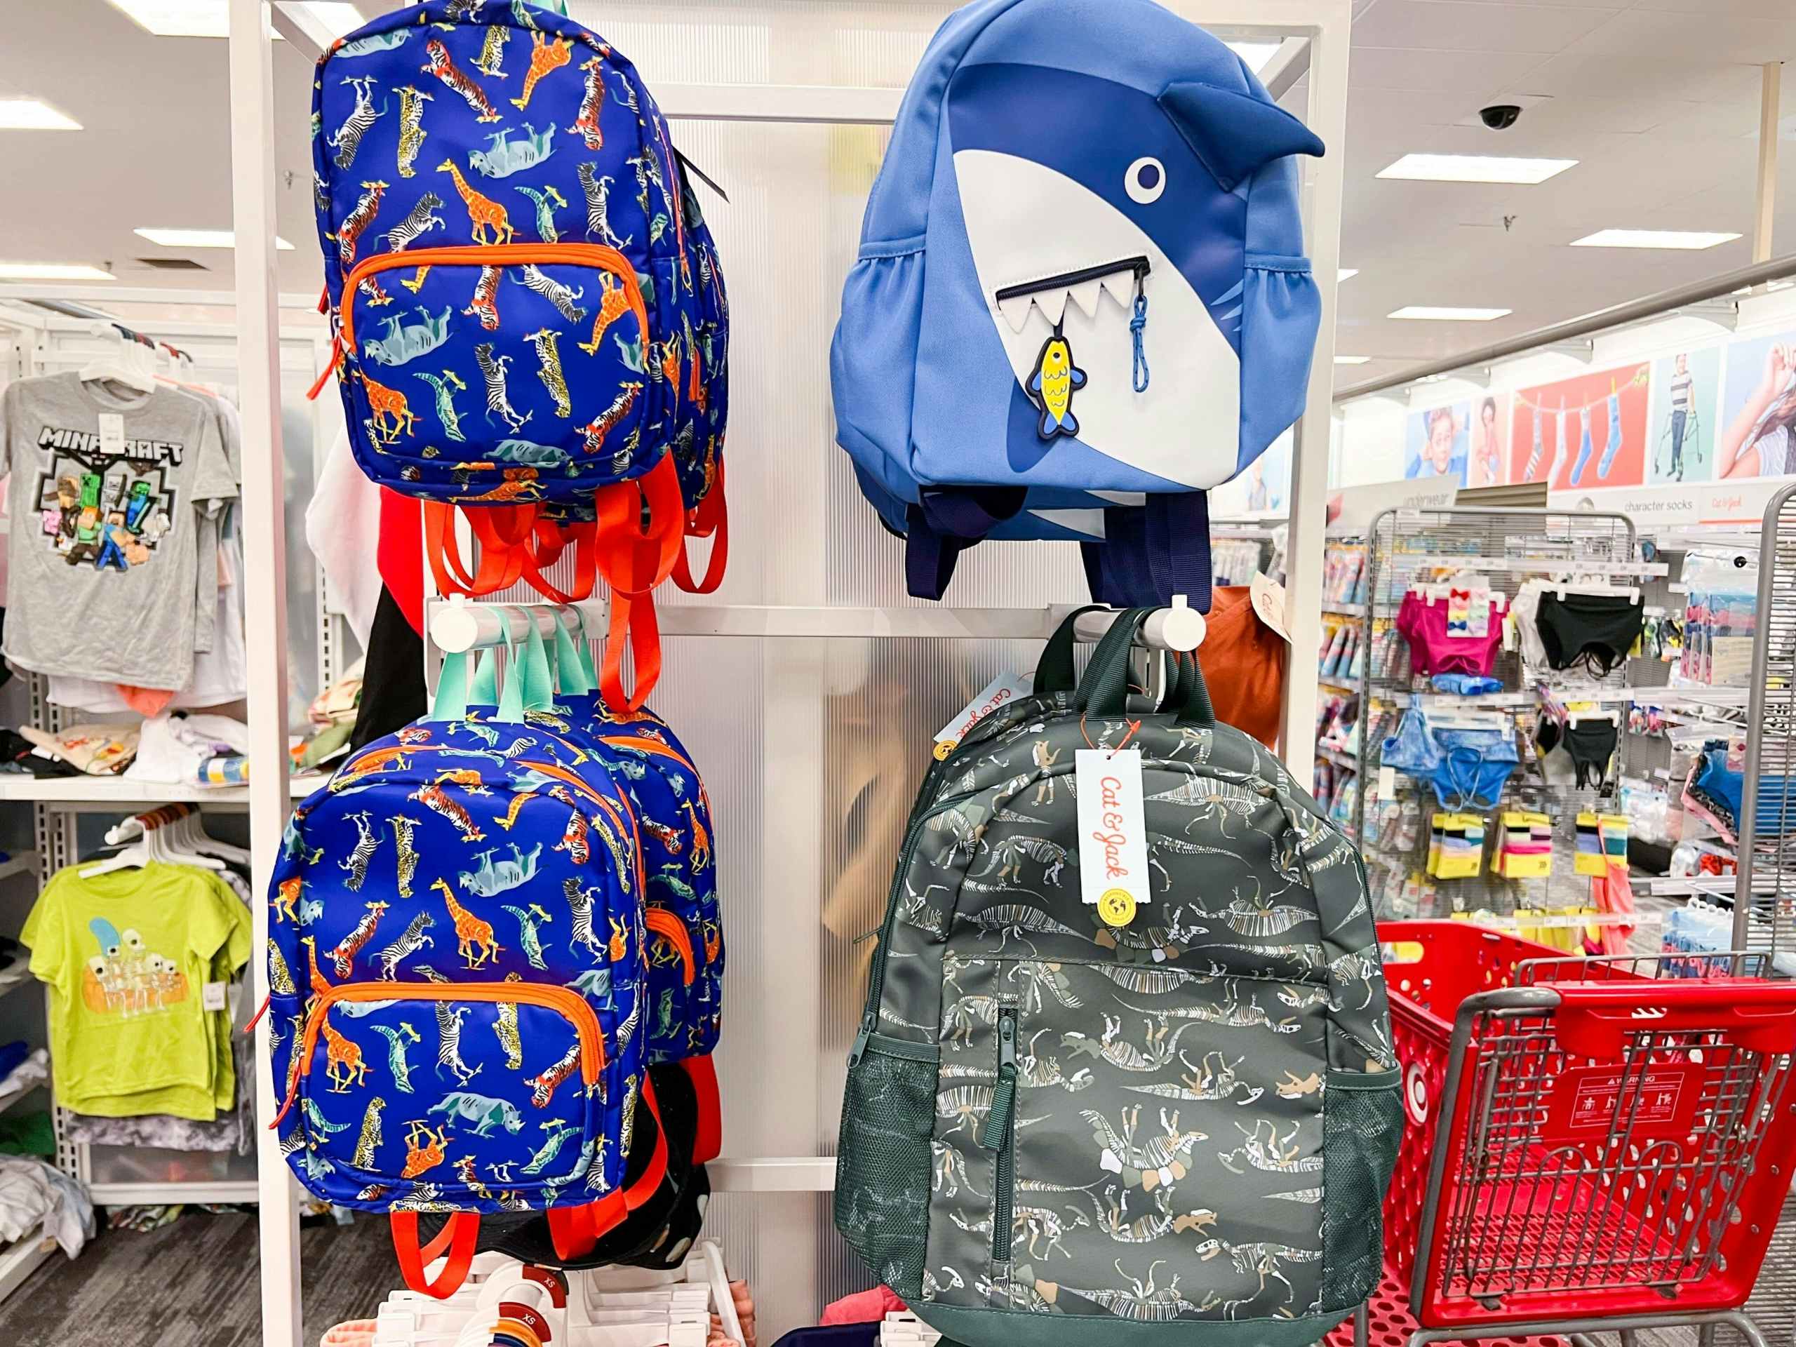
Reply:
M1309 34L1309 129L1327 154L1306 160L1309 176L1309 264L1322 293L1322 323L1309 366L1309 395L1291 451L1291 532L1286 551L1284 620L1291 663L1284 675L1279 749L1299 781L1315 774L1316 666L1322 659L1322 546L1327 530L1329 435L1334 404L1334 311L1342 260L1342 187L1347 160L1347 43L1351 0L1288 4L1266 0L1255 18L1288 22ZM1290 20L1284 14L1290 11ZM1299 18L1300 16L1300 18Z

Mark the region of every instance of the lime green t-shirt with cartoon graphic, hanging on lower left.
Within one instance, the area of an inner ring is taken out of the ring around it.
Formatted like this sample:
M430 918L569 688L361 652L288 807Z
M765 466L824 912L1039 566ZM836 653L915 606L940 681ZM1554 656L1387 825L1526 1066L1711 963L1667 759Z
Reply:
M203 995L248 963L250 930L242 900L198 866L57 871L20 934L52 988L56 1103L201 1122L230 1108L230 1026Z

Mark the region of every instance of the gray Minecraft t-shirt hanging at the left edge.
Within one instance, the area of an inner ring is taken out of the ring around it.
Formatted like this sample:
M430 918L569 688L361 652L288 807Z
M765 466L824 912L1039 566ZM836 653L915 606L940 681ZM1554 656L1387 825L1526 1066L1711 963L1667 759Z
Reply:
M199 519L237 494L217 409L176 388L22 379L0 397L0 472L11 474L5 657L185 688Z

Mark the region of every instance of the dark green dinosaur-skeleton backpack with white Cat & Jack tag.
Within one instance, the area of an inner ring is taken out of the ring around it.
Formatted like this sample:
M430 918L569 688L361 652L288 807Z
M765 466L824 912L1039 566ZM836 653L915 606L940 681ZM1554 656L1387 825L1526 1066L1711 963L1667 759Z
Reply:
M1070 693L1065 629L930 769L873 957L835 1225L964 1347L1297 1347L1381 1268L1403 1108L1363 864L1196 661L1128 713L1146 614Z

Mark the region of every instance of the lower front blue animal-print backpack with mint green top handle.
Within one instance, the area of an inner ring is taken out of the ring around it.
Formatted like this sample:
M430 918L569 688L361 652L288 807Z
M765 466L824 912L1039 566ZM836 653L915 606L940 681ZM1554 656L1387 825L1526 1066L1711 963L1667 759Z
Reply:
M684 929L645 907L629 794L551 709L541 643L512 668L481 715L449 657L429 718L295 810L269 891L282 1151L318 1196L392 1212L431 1295L467 1273L483 1212L546 1211L578 1257L654 1194L650 950L670 948L663 979L693 977ZM420 1212L451 1214L429 1246Z

